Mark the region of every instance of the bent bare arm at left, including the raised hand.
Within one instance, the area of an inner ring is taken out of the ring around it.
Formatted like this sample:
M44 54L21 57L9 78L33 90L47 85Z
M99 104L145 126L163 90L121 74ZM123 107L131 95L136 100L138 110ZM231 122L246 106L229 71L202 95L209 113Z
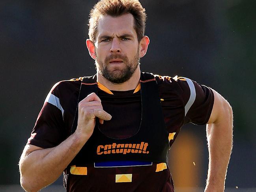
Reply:
M111 119L99 97L92 93L79 103L77 129L64 142L48 149L26 145L19 162L21 186L37 192L56 181L92 135L96 117L100 123Z

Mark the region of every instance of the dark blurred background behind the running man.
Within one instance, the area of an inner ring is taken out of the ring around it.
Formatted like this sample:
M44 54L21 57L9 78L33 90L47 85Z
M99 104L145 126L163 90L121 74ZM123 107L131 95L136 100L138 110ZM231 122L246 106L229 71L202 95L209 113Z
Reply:
M142 71L191 78L230 102L234 149L226 186L256 187L256 1L140 2L146 8L145 34L151 40ZM19 185L19 157L50 88L60 80L95 73L85 45L88 13L95 3L0 1L0 185ZM183 166L175 162L179 146L194 150L181 160L191 158L190 166L193 159L200 162L187 173L196 178L192 183L176 182L186 174L175 170ZM204 187L205 126L186 125L173 148L170 167L176 186ZM55 184L61 185L61 180Z

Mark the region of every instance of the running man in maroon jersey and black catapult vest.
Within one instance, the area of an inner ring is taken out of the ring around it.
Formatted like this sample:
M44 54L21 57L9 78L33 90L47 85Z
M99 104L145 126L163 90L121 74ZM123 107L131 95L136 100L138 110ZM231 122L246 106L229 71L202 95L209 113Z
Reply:
M141 73L146 14L137 0L93 7L86 45L97 75L58 82L19 163L21 185L38 191L64 171L69 192L172 192L168 150L181 126L207 123L206 192L224 191L232 149L232 109L188 78Z

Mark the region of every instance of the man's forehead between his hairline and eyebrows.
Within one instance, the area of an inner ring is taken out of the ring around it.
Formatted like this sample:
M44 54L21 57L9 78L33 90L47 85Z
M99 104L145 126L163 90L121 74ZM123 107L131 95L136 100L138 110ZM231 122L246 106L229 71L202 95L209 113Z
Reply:
M118 17L103 15L99 19L97 27L97 37L101 35L122 35L131 34L136 36L134 29L134 17L127 13Z

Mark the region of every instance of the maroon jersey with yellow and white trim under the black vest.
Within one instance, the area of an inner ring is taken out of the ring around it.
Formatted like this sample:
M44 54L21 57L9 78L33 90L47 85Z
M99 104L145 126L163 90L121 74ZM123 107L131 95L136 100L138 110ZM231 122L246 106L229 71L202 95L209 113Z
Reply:
M155 75L155 80L171 146L182 125L189 122L198 125L207 123L214 96L211 89L188 78ZM82 78L78 78L61 81L53 86L28 144L43 148L55 147L70 135L81 82ZM135 90L111 91L98 83L98 96L103 109L112 115L110 121L99 125L105 135L122 139L138 132L142 117L140 84ZM143 150L146 145L138 144L140 147ZM101 147L99 153L103 153ZM111 161L71 165L64 171L64 185L69 192L174 191L165 162Z

